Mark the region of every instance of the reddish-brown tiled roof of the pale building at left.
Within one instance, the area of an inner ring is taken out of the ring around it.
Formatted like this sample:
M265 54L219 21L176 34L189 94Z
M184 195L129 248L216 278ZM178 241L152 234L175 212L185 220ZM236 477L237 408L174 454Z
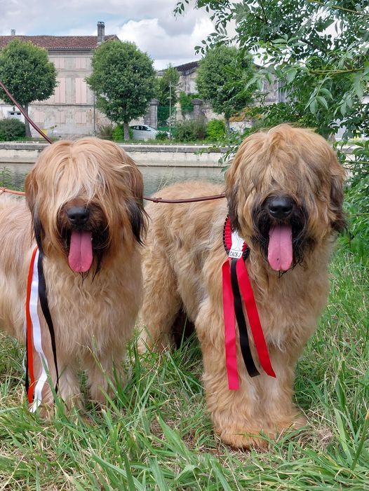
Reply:
M46 50L93 50L98 47L98 36L0 36L0 49L13 39L31 41ZM105 41L118 39L115 34L105 36Z

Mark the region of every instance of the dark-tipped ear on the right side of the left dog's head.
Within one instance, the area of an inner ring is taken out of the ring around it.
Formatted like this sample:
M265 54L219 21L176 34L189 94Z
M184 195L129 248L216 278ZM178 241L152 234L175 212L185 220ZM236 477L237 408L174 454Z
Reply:
M143 244L147 229L147 214L144 209L144 181L134 162L130 165L129 188L133 197L128 199L127 208L133 235Z

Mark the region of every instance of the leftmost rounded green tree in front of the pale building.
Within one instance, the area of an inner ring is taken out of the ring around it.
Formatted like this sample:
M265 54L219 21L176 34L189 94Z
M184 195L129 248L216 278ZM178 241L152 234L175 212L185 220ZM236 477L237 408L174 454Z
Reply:
M0 80L28 114L28 106L34 101L44 101L54 93L56 69L48 61L48 52L30 41L14 39L0 52ZM0 88L1 98L9 104ZM31 136L29 123L25 120L26 136Z

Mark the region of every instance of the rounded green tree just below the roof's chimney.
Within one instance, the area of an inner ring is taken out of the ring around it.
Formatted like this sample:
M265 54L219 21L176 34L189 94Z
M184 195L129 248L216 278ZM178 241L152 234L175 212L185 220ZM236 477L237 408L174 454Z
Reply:
M92 67L87 83L96 94L96 105L114 123L123 123L128 139L130 120L145 114L155 94L152 60L134 43L114 40L95 50Z

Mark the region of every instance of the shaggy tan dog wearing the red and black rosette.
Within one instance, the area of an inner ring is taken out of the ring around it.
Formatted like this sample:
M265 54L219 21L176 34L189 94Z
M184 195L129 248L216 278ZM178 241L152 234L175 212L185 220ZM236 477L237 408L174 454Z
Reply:
M178 312L185 310L201 343L215 432L229 445L263 445L261 431L274 438L304 424L292 400L295 364L326 304L328 260L336 232L344 228L343 179L322 137L279 125L243 141L226 174L227 200L147 207L151 221L143 254L140 350L166 347ZM222 186L188 182L158 195L191 198L222 191ZM248 325L260 375L248 375L237 343L238 390L229 390L224 354L227 214L250 247L246 266L276 373L273 378L260 368Z

